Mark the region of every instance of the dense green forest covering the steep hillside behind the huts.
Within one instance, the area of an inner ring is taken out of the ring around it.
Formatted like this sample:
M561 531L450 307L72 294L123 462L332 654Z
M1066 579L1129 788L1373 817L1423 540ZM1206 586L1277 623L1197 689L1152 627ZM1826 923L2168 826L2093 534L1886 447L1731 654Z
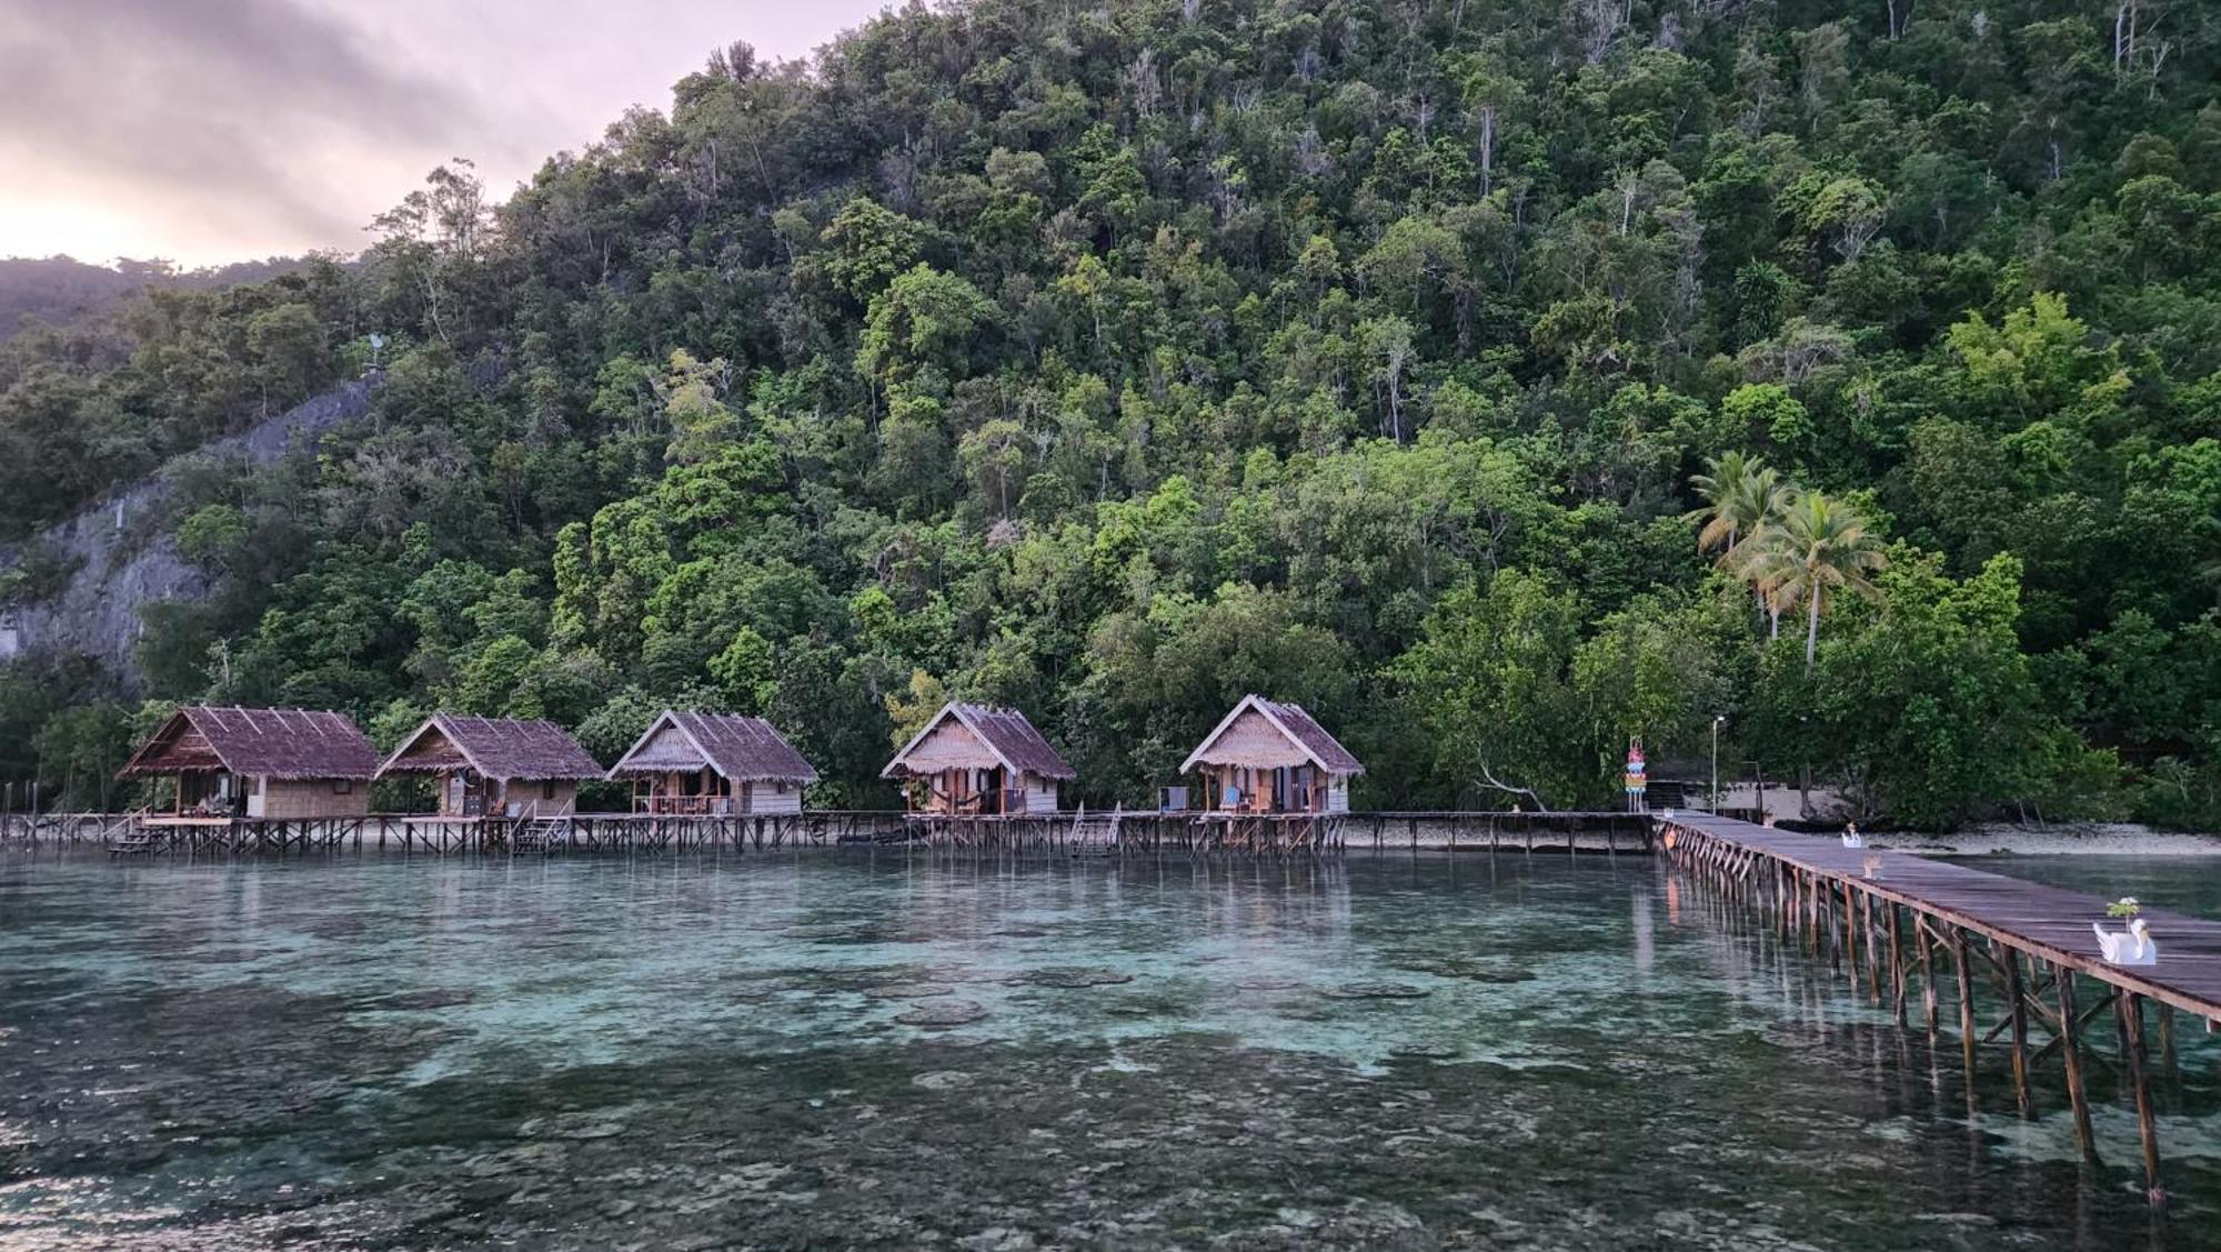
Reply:
M742 31L744 33L744 31ZM1870 819L2221 826L2221 9L979 0L717 51L506 202L0 344L0 531L180 473L160 701L766 713L891 799L939 693L1146 801L1244 693L1357 804L1612 801L1630 735ZM11 595L38 595L18 575ZM1666 770L1672 773L1672 770ZM73 795L60 795L62 790Z

